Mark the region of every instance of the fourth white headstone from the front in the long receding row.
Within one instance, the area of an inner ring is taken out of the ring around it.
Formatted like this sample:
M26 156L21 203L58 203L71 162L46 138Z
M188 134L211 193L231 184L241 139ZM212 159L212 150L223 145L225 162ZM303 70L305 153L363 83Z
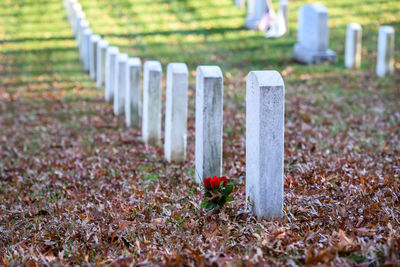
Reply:
M146 61L143 67L142 137L149 145L161 145L161 78L159 61Z

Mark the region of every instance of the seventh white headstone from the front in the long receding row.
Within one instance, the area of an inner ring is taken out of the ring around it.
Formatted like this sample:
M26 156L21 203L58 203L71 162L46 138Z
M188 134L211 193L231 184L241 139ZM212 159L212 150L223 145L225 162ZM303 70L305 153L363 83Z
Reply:
M106 81L104 100L110 102L114 97L115 66L117 65L118 47L109 46L106 56Z

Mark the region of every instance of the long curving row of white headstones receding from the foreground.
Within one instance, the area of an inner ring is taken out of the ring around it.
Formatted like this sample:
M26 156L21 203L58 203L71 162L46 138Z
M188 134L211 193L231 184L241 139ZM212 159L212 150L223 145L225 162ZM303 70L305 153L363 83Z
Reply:
M94 34L77 0L63 0L80 59L114 114L127 127L141 127L142 139L161 145L162 66L120 53ZM186 159L188 68L169 63L166 81L165 158ZM284 82L276 71L252 71L246 83L246 202L258 218L283 212ZM195 179L222 175L223 75L218 66L196 69ZM141 101L143 99L143 102Z

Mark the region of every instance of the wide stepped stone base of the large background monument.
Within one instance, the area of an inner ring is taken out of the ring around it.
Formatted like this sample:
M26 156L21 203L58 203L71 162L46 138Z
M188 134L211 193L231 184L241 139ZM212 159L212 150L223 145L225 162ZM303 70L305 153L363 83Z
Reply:
M306 64L321 64L323 62L336 62L336 52L327 49L325 51L313 51L301 44L294 45L294 58Z

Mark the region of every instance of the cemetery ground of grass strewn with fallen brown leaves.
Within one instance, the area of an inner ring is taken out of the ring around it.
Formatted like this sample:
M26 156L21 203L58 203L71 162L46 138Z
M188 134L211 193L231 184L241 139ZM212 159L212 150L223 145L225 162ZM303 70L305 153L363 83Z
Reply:
M289 34L244 29L229 0L82 1L94 32L130 56L185 62L188 159L168 164L115 117L82 72L62 1L0 3L0 265L400 264L400 72L375 75L379 25L400 32L400 2L322 1L332 65L292 59ZM363 26L362 66L343 67L346 25ZM400 68L400 38L395 65ZM223 174L237 182L219 214L194 182L195 68L224 73ZM286 85L281 219L245 212L245 76ZM164 94L165 97L165 94Z

